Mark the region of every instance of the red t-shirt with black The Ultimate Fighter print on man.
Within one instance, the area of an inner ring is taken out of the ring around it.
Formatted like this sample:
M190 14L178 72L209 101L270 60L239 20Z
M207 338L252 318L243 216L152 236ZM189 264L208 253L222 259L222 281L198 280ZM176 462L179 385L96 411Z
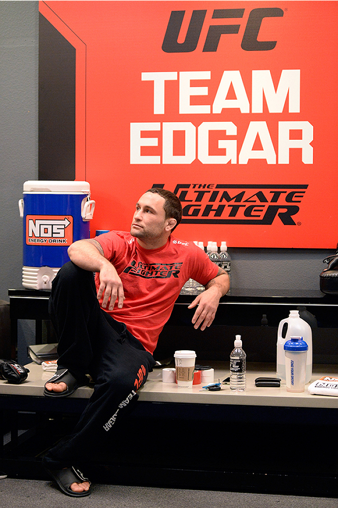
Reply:
M125 302L106 310L152 353L182 286L189 278L206 285L218 267L193 242L170 236L158 249L142 248L130 233L110 231L96 237L105 258L115 267L124 287ZM99 288L99 274L96 274Z

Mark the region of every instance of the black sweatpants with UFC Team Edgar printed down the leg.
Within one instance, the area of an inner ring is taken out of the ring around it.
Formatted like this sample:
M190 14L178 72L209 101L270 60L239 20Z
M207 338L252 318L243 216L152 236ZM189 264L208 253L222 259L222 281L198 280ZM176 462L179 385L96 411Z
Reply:
M72 262L53 280L49 313L59 339L58 366L78 380L90 374L95 382L73 433L44 457L47 467L59 469L105 447L115 422L138 399L136 392L155 361L124 324L100 308L93 273Z

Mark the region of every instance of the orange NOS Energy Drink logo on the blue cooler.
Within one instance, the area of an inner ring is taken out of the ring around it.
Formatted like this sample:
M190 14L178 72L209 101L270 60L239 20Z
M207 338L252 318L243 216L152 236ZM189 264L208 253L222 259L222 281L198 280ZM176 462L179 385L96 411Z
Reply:
M73 243L72 215L26 215L26 245Z

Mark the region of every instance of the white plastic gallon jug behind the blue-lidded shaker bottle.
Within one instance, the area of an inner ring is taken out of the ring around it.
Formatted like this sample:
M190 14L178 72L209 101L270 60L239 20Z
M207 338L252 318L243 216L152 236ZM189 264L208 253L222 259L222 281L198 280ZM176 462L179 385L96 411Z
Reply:
M290 310L289 317L283 319L278 327L277 375L282 379L285 379L284 344L291 337L302 337L309 346L308 354L306 355L305 383L310 383L312 376L312 330L311 326L299 317L298 310Z

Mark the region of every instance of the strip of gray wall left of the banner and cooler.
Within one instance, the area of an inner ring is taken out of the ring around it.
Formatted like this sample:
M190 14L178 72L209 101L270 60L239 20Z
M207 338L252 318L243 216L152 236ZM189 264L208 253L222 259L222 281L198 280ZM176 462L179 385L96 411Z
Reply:
M0 299L20 288L25 180L38 178L39 2L0 2Z

